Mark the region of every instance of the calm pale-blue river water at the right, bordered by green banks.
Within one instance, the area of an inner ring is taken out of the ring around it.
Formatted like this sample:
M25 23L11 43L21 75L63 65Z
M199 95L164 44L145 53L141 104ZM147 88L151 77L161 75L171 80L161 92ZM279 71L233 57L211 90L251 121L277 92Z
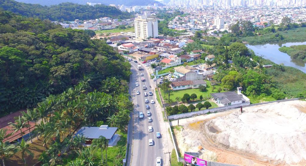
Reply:
M265 59L269 59L276 64L284 64L285 66L291 66L306 73L305 63L301 60L292 59L287 53L280 52L278 48L282 46L293 45L306 45L306 42L288 42L278 44L263 44L263 45L246 45L249 49L252 49L257 56L263 56Z

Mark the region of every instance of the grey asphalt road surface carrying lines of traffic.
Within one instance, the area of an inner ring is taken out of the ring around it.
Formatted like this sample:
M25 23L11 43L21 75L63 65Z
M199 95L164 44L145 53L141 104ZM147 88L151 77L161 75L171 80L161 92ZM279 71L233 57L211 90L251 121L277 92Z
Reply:
M132 81L130 83L130 89L132 92L132 99L134 105L134 120L133 120L133 148L132 148L132 166L155 166L156 157L162 157L162 165L164 160L163 144L162 138L156 138L156 132L160 132L160 121L156 109L158 104L156 100L155 91L150 87L150 76L147 74L144 65L142 65L142 70L137 69L138 63L134 61L130 62L132 64ZM140 76L143 73L144 76ZM141 81L141 77L144 77L145 81ZM135 83L139 83L139 87L136 87ZM143 90L143 85L147 87L147 90ZM152 86L153 87L153 86ZM136 90L140 91L139 95L136 95ZM153 96L144 96L144 92L152 91ZM149 103L144 103L144 99L147 98ZM151 104L150 100L153 99L155 104ZM152 122L148 122L146 105L150 106L149 111L151 111ZM144 118L139 118L139 112L143 112ZM148 131L148 127L153 127L153 132ZM163 135L162 135L163 137ZM149 139L153 139L153 146L149 146Z

